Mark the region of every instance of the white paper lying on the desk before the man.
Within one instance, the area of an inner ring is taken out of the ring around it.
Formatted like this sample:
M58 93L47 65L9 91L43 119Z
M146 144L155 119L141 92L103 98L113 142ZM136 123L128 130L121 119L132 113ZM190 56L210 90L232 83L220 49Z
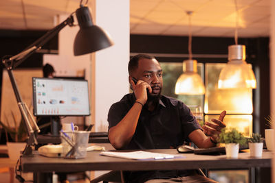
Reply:
M153 153L148 151L132 151L132 152L113 152L113 151L104 151L100 155L112 156L118 158L127 158L133 160L148 160L148 159L168 159L168 158L184 158L182 155L175 154L162 154L162 153Z

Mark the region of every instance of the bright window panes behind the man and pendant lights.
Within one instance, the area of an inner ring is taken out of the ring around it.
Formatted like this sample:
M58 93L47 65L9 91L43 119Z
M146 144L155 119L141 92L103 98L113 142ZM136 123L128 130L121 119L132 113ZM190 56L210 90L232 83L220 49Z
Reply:
M219 89L219 73L225 64L197 64L199 75L202 79L205 78L206 94L204 96L175 95L175 83L182 73L182 63L160 62L160 64L164 71L162 94L175 97L186 103L201 124L203 121L219 118L219 113L226 110L228 115L226 115L224 122L228 127L236 127L245 136L252 134L252 89Z

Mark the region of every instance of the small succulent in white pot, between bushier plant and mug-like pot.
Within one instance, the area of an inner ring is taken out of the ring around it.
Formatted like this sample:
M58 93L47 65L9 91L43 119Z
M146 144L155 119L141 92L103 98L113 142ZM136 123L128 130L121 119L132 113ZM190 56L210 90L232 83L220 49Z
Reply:
M261 134L253 133L252 136L248 138L248 146L250 148L250 156L262 157L263 138L261 137Z

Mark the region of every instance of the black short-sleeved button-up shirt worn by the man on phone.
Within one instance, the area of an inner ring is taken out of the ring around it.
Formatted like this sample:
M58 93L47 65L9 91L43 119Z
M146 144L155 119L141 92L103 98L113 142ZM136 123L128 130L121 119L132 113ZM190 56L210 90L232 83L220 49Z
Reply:
M117 125L135 103L133 93L114 103L108 114L109 129ZM181 101L162 95L153 112L145 105L135 134L125 149L169 149L182 145L190 132L200 129L190 109Z

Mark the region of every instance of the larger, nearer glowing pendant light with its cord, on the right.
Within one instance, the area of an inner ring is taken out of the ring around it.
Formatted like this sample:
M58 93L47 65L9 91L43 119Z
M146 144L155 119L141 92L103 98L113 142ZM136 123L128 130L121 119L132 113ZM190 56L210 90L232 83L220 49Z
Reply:
M236 6L235 43L228 47L228 63L219 75L220 89L225 88L256 88L255 75L247 62L245 62L245 45L238 45L238 10Z

